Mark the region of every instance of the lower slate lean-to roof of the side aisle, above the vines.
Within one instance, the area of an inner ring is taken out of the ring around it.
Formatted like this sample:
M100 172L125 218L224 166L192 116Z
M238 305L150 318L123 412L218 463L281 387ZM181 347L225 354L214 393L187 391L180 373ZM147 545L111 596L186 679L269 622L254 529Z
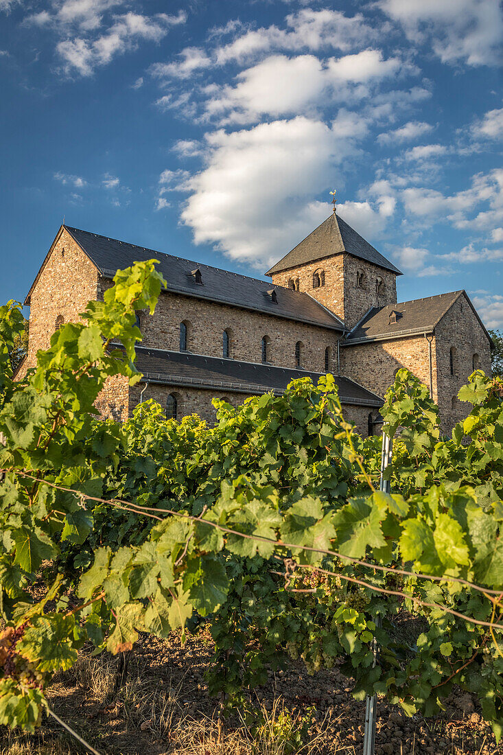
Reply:
M290 381L310 377L317 384L322 373L292 370L273 365L240 362L179 351L136 347L136 367L143 372L143 382L173 386L218 388L230 393L283 393ZM341 402L381 406L382 400L348 377L335 375Z

